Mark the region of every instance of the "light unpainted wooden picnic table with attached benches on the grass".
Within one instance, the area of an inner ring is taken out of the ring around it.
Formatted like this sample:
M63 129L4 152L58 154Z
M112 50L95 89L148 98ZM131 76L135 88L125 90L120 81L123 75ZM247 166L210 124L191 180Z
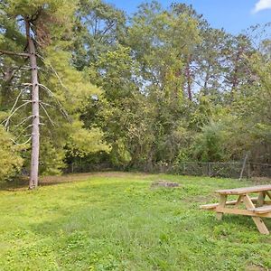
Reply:
M223 213L251 216L259 232L269 234L269 230L261 218L271 218L271 184L216 192L220 195L220 202L201 205L201 209L216 211L218 220L222 219ZM251 193L256 193L257 197L250 197ZM238 198L235 201L227 201L229 195L235 195ZM266 197L269 200L266 200ZM242 205L245 208L241 209Z

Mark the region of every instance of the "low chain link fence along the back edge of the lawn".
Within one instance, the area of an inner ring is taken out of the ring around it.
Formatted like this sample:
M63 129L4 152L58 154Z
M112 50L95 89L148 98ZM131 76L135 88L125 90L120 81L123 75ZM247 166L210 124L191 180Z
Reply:
M223 178L271 178L271 164L244 163L244 162L182 162L178 164L141 164L133 168L116 167L112 164L67 164L62 168L63 173L91 173L106 171L139 171L145 173L171 173L191 176L209 176ZM29 170L23 169L23 175L28 175Z

